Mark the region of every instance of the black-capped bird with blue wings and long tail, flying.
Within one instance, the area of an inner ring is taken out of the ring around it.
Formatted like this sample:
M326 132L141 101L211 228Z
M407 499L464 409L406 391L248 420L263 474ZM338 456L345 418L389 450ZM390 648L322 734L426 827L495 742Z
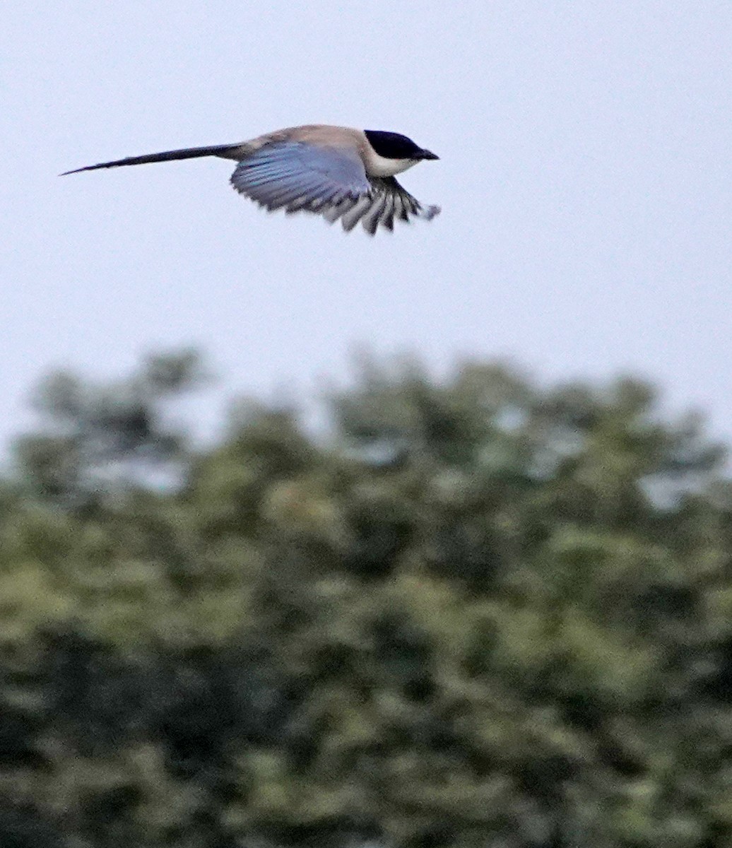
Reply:
M260 206L312 212L331 224L340 220L346 232L360 221L374 235L379 226L394 230L394 220L432 220L440 211L439 206L422 206L395 179L422 159L439 156L398 132L346 126L293 126L249 142L131 156L67 170L61 176L199 156L236 161L232 186Z

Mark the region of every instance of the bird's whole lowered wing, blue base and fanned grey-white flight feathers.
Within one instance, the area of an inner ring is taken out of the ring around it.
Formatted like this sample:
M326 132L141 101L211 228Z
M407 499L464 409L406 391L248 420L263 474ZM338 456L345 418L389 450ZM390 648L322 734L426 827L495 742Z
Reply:
M321 148L306 142L271 142L247 156L232 174L232 186L266 209L306 211L346 232L359 221L373 235L378 226L394 229L394 219L432 219L439 207L422 204L394 177L366 177L355 151Z

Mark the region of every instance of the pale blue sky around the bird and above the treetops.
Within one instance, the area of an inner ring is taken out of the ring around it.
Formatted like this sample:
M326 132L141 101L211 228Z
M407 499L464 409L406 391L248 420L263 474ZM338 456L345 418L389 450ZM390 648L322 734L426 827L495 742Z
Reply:
M5 415L64 365L194 343L221 392L349 351L632 371L732 440L732 4L25 0L0 28ZM323 122L404 132L443 214L374 239L265 215L220 159L59 178Z

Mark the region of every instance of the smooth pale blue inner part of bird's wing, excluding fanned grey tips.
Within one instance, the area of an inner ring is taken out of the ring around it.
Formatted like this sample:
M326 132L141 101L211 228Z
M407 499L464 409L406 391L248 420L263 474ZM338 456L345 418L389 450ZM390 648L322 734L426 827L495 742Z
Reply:
M237 192L266 209L320 212L357 200L371 185L357 152L305 142L273 142L239 162L232 174Z

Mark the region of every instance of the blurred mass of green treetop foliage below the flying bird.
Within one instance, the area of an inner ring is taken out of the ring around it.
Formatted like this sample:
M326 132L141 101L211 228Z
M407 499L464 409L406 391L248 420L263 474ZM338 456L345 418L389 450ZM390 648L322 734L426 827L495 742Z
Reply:
M249 404L193 452L203 375L42 387L0 489L0 845L732 844L701 421L366 359L332 432Z

